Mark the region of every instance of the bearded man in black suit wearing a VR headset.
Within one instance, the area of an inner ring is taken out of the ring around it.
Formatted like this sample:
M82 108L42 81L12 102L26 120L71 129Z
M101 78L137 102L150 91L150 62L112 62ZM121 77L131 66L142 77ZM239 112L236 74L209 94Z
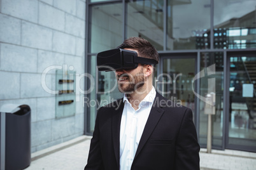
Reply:
M139 37L125 40L119 48L122 53L136 51L138 66L124 69L129 67L112 64L124 98L99 108L85 169L199 169L192 111L167 100L152 86L157 50ZM148 61L152 65L145 64Z

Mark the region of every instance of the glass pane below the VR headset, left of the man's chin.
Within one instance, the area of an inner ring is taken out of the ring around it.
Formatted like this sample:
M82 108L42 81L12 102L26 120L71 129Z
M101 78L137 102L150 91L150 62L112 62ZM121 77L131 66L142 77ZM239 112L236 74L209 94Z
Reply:
M92 91L83 100L83 104L87 107L87 133L93 133L97 110L111 103L118 98L122 98L123 94L118 91L115 72L98 72L96 67L96 56L89 57L90 75L93 79L89 79L87 91ZM94 82L92 82L94 81Z

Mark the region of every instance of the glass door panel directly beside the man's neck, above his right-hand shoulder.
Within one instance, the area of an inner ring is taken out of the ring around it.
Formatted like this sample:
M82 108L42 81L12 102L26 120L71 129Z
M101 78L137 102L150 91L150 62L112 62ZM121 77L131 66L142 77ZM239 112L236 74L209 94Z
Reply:
M162 58L162 74L159 75L160 92L169 100L176 101L196 113L192 79L196 72L196 57ZM195 117L194 117L195 119Z

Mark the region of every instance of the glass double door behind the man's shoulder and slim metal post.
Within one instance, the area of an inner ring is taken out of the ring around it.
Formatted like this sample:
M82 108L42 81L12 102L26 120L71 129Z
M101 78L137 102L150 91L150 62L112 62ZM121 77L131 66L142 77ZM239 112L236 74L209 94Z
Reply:
M185 55L185 56L184 56ZM189 107L193 112L194 124L201 147L206 147L208 115L206 103L197 98L205 98L211 92L215 93L215 115L212 115L213 148L221 149L223 143L223 109L224 109L224 60L220 52L197 54L180 54L180 56L161 57L160 74L157 88L162 95L176 103ZM199 67L197 66L199 64ZM211 68L214 67L214 73ZM201 75L201 73L203 74ZM199 77L198 74L200 75ZM192 81L194 79L194 82ZM214 90L213 90L214 89ZM197 96L196 96L196 95Z

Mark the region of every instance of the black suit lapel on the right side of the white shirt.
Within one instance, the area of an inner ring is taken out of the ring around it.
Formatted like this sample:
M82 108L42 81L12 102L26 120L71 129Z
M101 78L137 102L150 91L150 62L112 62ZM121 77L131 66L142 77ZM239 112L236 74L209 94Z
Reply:
M160 120L160 117L162 117L162 114L164 113L164 110L160 108L160 100L164 100L162 96L160 96L158 93L155 96L155 100L153 102L152 109L150 111L150 115L148 116L148 121L146 121L145 128L143 130L141 140L139 141L139 145L134 157L134 160L138 156L139 152L141 152L141 149L144 147L146 141L150 137L150 134L152 134L153 129L155 129L155 126L157 126L157 123Z

